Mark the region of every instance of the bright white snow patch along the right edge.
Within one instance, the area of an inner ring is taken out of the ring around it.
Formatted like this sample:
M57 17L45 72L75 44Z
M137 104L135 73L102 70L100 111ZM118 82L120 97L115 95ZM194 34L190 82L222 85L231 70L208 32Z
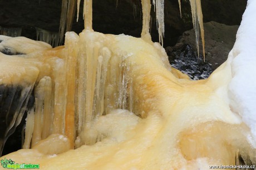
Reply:
M256 141L256 1L248 0L247 9L237 33L229 58L232 80L229 84L230 106L242 116ZM248 141L252 139L248 138Z

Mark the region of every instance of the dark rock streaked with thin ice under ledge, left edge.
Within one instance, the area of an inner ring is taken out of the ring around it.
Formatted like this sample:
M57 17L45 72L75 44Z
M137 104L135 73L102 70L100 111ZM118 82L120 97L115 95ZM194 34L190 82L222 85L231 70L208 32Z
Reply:
M0 85L0 155L2 150L4 155L21 149L21 131L27 111L35 104L34 91L24 96L26 91L26 87L19 85Z

